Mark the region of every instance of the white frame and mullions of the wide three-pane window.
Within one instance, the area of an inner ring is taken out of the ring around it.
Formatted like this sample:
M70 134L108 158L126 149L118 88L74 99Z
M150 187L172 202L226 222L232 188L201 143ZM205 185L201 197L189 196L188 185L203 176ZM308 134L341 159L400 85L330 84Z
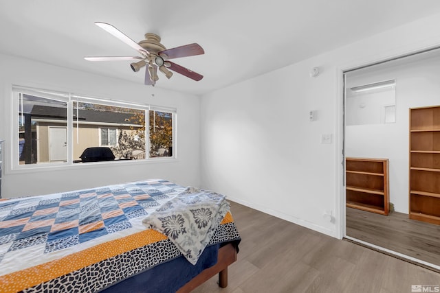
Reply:
M44 97L47 99L55 99L59 102L66 102L67 103L67 161L66 162L48 162L48 163L36 163L36 164L19 164L19 95L20 93L28 94L28 95L35 95L37 97ZM26 170L29 170L29 172L34 172L35 169L57 169L57 168L69 168L69 167L80 167L80 166L87 166L87 165L96 165L96 164L111 164L112 161L107 162L90 162L85 164L77 164L74 163L73 160L73 139L74 139L74 102L89 102L94 104L102 104L102 105L108 105L108 106L122 106L126 108L133 108L137 110L144 110L145 111L145 117L146 117L146 126L145 126L145 152L146 156L145 159L142 160L131 160L126 161L126 163L139 163L139 162L148 162L148 161L157 161L157 160L169 160L169 159L176 159L177 158L177 109L176 108L168 108L168 107L162 107L162 106L151 106L148 104L137 104L137 103L131 103L131 102L125 102L115 99L105 99L102 97L89 97L85 95L76 95L74 93L65 93L65 92L59 92L59 91L52 91L52 90L44 90L44 89L34 89L34 88L28 88L25 86L12 86L12 95L11 95L12 102L10 104L11 106L11 112L10 119L11 119L11 125L10 128L10 161L8 162L8 172L26 172ZM172 114L173 119L173 154L172 156L166 156L166 157L149 157L149 150L150 150L150 138L149 138L149 110L157 110L162 112L167 112ZM78 123L78 121L77 121ZM109 127L111 128L111 127ZM109 129L107 128L107 129ZM118 128L116 129L116 138L118 138ZM100 135L100 132L99 132ZM99 137L99 141L101 143L101 137ZM118 144L118 141L116 141L116 144ZM122 162L121 162L122 163Z

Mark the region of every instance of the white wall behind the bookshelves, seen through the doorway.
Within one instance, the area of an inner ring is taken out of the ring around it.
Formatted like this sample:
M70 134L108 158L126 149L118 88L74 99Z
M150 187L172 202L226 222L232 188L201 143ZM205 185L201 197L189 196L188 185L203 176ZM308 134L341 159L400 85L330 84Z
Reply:
M403 65L391 63L384 67L378 71L372 68L372 72L353 77L349 73L347 87L395 79L396 123L347 126L345 153L347 156L388 159L390 202L395 211L408 213L408 109L440 105L440 57Z

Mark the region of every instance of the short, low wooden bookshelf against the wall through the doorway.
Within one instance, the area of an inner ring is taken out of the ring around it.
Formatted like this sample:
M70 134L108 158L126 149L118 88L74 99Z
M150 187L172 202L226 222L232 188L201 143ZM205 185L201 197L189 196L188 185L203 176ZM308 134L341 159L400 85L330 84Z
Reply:
M347 207L388 215L388 159L346 158Z

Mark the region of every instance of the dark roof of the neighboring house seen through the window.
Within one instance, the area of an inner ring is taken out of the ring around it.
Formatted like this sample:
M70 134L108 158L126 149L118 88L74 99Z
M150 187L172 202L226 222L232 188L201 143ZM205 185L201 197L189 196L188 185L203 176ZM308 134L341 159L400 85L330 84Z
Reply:
M38 117L40 119L67 119L67 110L62 107L34 105L30 114L32 117ZM138 125L131 121L133 119L132 113L80 109L78 110L78 116L78 120L83 124L87 122L94 124L102 122L106 124ZM74 113L74 120L76 120L76 111Z

